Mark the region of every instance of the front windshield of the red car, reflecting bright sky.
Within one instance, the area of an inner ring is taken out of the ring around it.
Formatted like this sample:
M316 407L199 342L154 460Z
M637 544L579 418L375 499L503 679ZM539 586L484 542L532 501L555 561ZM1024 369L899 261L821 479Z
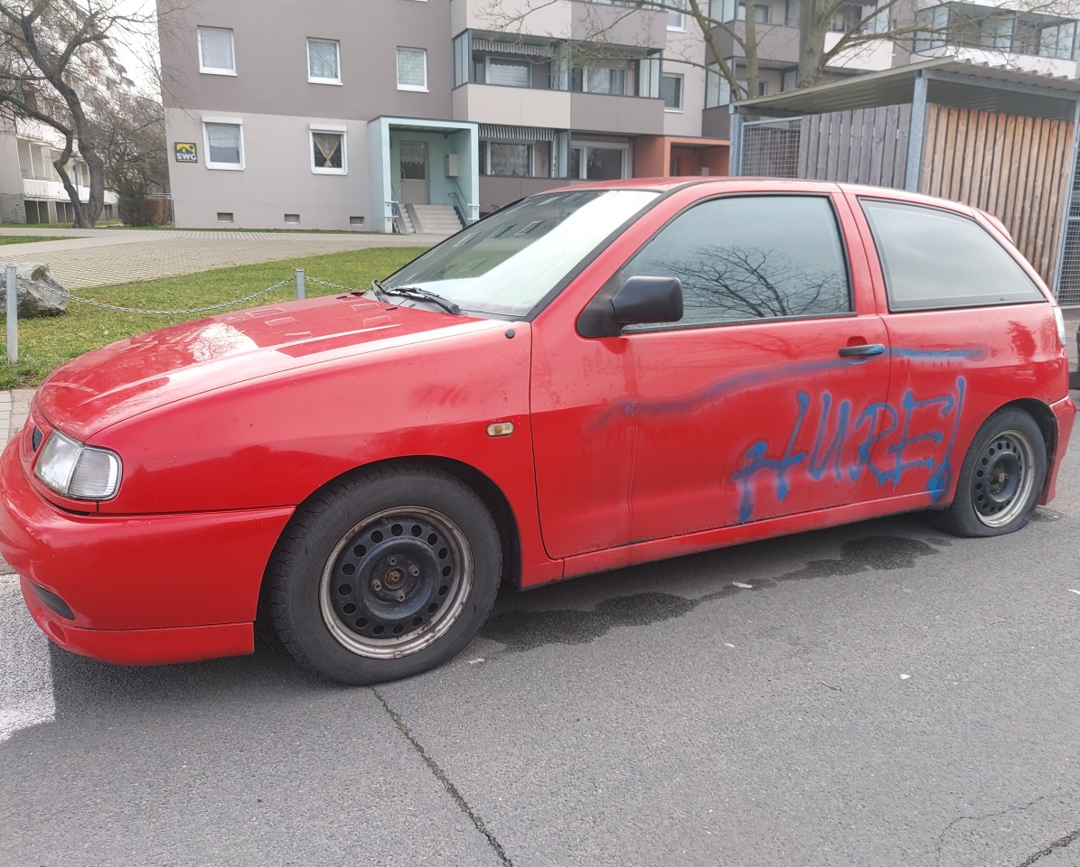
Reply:
M659 194L590 190L523 199L428 250L382 286L418 287L465 310L522 316Z

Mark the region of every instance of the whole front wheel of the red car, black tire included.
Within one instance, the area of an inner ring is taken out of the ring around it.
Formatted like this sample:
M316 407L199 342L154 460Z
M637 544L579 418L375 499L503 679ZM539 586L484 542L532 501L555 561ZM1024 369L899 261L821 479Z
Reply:
M279 637L303 666L377 683L442 665L495 602L502 547L459 479L426 466L360 471L308 500L267 568Z

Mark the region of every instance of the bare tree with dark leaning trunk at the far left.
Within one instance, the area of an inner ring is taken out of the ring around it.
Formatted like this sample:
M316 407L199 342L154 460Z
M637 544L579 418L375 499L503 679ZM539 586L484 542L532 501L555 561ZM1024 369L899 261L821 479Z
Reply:
M0 0L0 105L63 138L53 166L76 227L93 227L105 204L103 107L133 87L117 46L147 32L153 22L152 11L131 12L130 6L120 0ZM71 176L76 151L89 170L86 202L80 201Z

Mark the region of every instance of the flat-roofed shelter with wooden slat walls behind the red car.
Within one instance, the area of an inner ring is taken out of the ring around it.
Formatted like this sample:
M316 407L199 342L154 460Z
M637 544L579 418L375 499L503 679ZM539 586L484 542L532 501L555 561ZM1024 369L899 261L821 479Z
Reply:
M737 104L731 173L974 205L1001 219L1063 304L1080 304L1078 122L1080 81L936 58Z

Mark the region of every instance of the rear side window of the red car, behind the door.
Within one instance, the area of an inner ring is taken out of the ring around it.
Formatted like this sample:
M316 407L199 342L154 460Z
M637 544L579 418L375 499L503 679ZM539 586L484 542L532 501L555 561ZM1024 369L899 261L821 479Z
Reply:
M1045 300L1016 260L974 220L922 205L861 202L885 272L890 310Z

